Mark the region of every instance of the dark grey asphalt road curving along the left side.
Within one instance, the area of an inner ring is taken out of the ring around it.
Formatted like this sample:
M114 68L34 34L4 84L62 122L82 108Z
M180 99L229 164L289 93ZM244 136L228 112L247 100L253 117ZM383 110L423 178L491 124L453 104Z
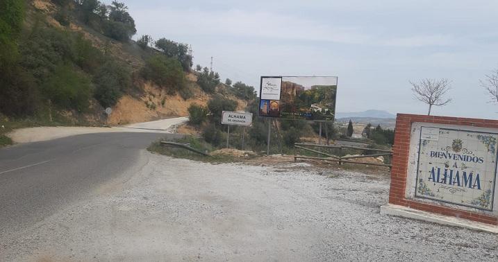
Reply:
M123 177L139 151L174 134L81 134L0 149L0 236L12 236ZM1 249L1 243L0 243Z

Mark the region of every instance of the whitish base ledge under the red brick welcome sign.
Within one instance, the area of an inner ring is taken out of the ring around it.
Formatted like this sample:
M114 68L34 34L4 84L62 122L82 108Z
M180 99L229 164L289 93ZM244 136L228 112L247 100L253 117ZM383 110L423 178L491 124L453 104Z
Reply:
M390 216L401 216L403 218L412 218L427 222L435 222L441 225L449 225L453 227L464 227L483 232L498 234L498 226L493 226L463 218L455 218L453 216L442 216L437 213L430 213L409 207L399 206L397 204L385 204L381 206L381 214Z

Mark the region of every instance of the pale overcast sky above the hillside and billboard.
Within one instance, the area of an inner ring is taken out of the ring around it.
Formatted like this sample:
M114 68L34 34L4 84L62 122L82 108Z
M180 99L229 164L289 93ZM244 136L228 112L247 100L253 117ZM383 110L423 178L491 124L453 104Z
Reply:
M192 45L194 64L260 76L338 76L338 112L426 114L408 80L449 78L433 114L498 118L479 85L498 67L498 1L125 1L137 35Z

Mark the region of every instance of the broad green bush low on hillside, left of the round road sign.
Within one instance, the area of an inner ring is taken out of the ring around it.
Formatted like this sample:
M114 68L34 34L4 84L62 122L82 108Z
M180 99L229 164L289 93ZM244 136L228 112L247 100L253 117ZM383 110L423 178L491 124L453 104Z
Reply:
M71 66L59 65L44 82L42 90L54 105L83 112L88 109L92 96L92 82Z

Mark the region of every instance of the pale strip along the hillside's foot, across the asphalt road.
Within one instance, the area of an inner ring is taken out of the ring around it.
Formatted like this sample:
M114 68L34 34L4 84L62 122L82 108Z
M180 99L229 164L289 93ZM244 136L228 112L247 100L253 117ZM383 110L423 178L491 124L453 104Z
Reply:
M113 128L92 128L92 127L38 127L21 128L7 134L15 143L28 143L47 141L62 137L74 136L77 134L92 134L103 132L172 132L172 128L188 121L187 117L177 117L174 119L163 119L158 121L134 123L131 125L117 126Z

